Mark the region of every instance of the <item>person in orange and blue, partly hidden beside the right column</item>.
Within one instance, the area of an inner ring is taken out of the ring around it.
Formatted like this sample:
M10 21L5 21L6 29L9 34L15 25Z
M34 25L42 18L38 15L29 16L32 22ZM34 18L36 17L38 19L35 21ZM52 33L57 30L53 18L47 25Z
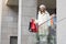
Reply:
M56 14L53 13L51 15L51 33L50 33L50 43L51 44L56 44Z

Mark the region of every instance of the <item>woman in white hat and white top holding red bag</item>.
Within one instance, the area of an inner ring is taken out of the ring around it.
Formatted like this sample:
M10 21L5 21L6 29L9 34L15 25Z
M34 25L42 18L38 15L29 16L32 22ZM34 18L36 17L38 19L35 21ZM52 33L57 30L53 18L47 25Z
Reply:
M46 11L46 7L44 4L40 6L38 16L35 20L38 23L38 37L40 44L47 44L47 35L48 35L48 26L50 26L50 13Z

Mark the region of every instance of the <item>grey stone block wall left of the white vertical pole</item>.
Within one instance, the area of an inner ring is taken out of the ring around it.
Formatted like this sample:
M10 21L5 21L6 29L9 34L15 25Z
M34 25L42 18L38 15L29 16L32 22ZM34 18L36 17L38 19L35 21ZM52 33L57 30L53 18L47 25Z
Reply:
M10 36L18 36L18 8L8 7L2 0L1 44L10 44Z

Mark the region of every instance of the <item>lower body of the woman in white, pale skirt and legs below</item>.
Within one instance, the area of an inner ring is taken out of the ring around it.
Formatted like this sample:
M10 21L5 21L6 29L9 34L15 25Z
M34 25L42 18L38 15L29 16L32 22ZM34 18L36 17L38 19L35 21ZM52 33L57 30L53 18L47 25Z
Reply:
M40 42L47 43L48 26L46 24L38 26L38 36L40 36Z

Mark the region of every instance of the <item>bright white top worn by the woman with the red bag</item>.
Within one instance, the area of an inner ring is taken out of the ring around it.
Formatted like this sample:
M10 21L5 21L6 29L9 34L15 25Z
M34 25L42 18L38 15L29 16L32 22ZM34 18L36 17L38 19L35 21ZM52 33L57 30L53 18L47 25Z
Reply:
M43 22L50 20L50 13L47 11L45 11L45 13L41 14L41 12L38 11L38 16L36 22L40 24L42 24ZM50 25L50 21L47 22L47 24Z

